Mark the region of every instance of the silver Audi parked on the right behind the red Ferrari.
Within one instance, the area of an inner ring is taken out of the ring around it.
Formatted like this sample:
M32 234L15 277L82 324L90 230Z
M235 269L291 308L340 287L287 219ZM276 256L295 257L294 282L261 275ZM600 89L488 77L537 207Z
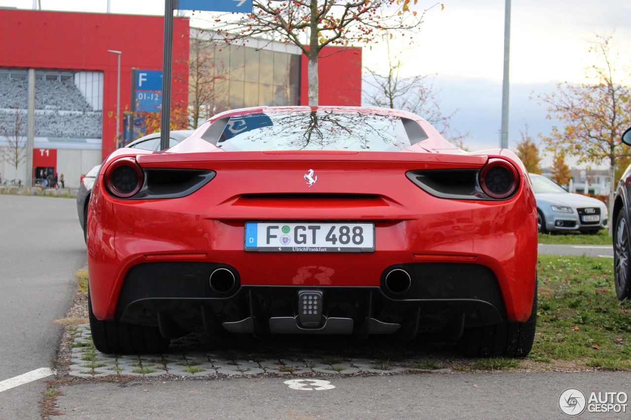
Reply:
M604 202L587 195L567 192L543 175L529 175L537 201L537 226L540 232L578 230L595 234L607 227L609 214Z

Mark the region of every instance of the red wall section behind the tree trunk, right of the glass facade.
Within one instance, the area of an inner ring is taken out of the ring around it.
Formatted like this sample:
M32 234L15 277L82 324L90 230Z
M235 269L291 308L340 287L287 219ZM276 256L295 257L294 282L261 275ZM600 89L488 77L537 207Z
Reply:
M300 62L300 105L309 105L307 67L302 54ZM362 105L362 49L324 47L318 59L319 105Z

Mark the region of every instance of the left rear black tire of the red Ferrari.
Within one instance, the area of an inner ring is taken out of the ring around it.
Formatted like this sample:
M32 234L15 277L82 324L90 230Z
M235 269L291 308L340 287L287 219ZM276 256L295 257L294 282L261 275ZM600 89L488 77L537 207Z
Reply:
M92 312L89 293L88 315L94 346L105 354L162 354L171 342L160 335L158 327L98 320Z

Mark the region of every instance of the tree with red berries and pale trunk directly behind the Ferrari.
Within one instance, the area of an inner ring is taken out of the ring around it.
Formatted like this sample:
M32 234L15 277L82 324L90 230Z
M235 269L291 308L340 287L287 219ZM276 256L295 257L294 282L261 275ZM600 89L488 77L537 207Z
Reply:
M252 13L215 13L213 24L221 24L215 40L245 45L247 38L262 35L270 41L296 45L309 59L309 105L317 106L318 57L322 49L369 44L386 30L411 39L427 11L417 3L418 0L253 0Z

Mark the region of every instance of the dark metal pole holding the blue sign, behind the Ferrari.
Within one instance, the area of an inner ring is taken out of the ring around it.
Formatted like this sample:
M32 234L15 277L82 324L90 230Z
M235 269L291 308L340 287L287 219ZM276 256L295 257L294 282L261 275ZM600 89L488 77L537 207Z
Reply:
M173 57L174 0L164 4L164 45L162 55L162 110L160 110L160 150L168 148L171 110L171 66Z

